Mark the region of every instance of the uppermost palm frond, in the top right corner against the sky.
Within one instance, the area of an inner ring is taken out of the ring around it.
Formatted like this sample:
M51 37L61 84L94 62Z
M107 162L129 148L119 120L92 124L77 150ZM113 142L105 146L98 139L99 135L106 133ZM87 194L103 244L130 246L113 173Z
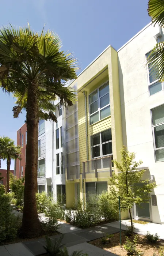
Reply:
M158 23L161 27L164 26L164 1L163 0L149 0L148 14L152 18L155 25Z

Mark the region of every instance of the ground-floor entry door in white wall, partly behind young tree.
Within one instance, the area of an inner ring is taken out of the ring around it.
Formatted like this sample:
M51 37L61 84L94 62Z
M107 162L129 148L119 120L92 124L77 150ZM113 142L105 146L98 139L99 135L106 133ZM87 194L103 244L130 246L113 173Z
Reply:
M138 183L137 186L143 186L143 183ZM149 219L150 220L150 203L141 203L140 206L136 204L136 207L134 207L134 217L139 219Z

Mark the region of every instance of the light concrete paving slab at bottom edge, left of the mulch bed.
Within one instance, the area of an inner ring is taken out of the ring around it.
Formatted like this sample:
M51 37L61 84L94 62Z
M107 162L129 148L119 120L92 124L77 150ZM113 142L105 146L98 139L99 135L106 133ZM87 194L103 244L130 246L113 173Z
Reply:
M84 242L82 244L73 245L67 248L69 253L73 251L83 251L83 253L88 253L89 256L104 256L109 255L107 251L98 248L92 244ZM111 255L112 256L112 255Z

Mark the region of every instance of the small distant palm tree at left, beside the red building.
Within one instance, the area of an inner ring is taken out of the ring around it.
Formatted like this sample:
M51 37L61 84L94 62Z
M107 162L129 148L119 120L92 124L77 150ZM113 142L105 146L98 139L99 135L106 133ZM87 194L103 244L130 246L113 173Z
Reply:
M6 188L5 193L9 192L9 172L10 172L10 166L11 166L11 159L20 159L20 146L15 146L14 140L11 140L7 144L7 150L5 151L3 158L7 160L7 177L6 177Z

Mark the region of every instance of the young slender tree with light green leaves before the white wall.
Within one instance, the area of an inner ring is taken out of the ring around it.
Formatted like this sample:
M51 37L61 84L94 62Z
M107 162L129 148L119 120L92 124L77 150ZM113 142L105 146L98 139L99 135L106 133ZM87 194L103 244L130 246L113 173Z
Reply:
M133 204L148 203L148 194L156 187L155 183L149 183L149 180L142 180L145 170L137 170L137 167L142 164L142 161L136 162L135 153L127 151L123 146L121 149L121 163L114 160L114 165L119 169L118 175L113 173L110 181L114 186L111 186L111 193L118 198L120 196L121 210L129 210L131 221L131 233L133 235L133 221L131 208Z

